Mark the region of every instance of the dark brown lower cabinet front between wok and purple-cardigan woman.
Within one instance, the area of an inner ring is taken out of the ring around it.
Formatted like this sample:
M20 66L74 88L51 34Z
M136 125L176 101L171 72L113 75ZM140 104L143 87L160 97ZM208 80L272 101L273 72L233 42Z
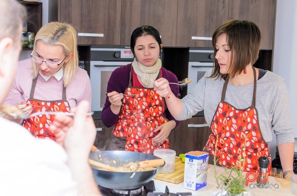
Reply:
M110 135L114 127L105 127L102 120L94 120L94 123L97 129L94 146L96 146L100 150L106 150L106 147L109 146Z

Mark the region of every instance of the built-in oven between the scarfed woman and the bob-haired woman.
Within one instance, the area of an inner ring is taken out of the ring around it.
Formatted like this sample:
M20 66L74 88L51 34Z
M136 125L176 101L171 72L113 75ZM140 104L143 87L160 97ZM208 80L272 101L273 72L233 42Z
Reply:
M205 72L213 67L213 48L190 47L188 79L193 82L188 84L187 93L191 92Z

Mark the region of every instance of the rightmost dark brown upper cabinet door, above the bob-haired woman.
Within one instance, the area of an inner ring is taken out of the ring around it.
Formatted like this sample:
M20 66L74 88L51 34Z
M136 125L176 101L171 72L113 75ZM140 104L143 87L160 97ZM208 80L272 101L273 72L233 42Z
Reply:
M250 20L260 28L260 48L273 49L275 0L229 0L229 20Z

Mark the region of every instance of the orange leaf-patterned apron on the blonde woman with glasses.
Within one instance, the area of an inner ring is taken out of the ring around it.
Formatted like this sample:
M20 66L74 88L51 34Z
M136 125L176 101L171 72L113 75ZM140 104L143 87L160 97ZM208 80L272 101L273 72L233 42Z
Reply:
M34 112L45 112L45 111L54 111L54 112L70 112L70 105L66 97L66 88L63 86L62 100L55 101L46 101L46 100L37 100L34 99L34 91L37 83L37 78L33 79L32 87L30 92L30 97L27 100L27 103L30 105L42 106L34 107L32 113ZM29 119L23 120L22 125L30 132L33 136L37 138L51 139L57 141L54 133L48 130L49 125L52 124L54 120L54 115L37 115Z

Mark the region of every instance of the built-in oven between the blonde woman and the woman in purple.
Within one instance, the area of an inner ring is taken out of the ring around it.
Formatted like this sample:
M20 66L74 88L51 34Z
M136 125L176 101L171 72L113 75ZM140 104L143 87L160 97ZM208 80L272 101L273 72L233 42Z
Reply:
M92 111L102 111L106 99L107 83L118 67L133 61L129 46L91 46L90 80L92 85Z

